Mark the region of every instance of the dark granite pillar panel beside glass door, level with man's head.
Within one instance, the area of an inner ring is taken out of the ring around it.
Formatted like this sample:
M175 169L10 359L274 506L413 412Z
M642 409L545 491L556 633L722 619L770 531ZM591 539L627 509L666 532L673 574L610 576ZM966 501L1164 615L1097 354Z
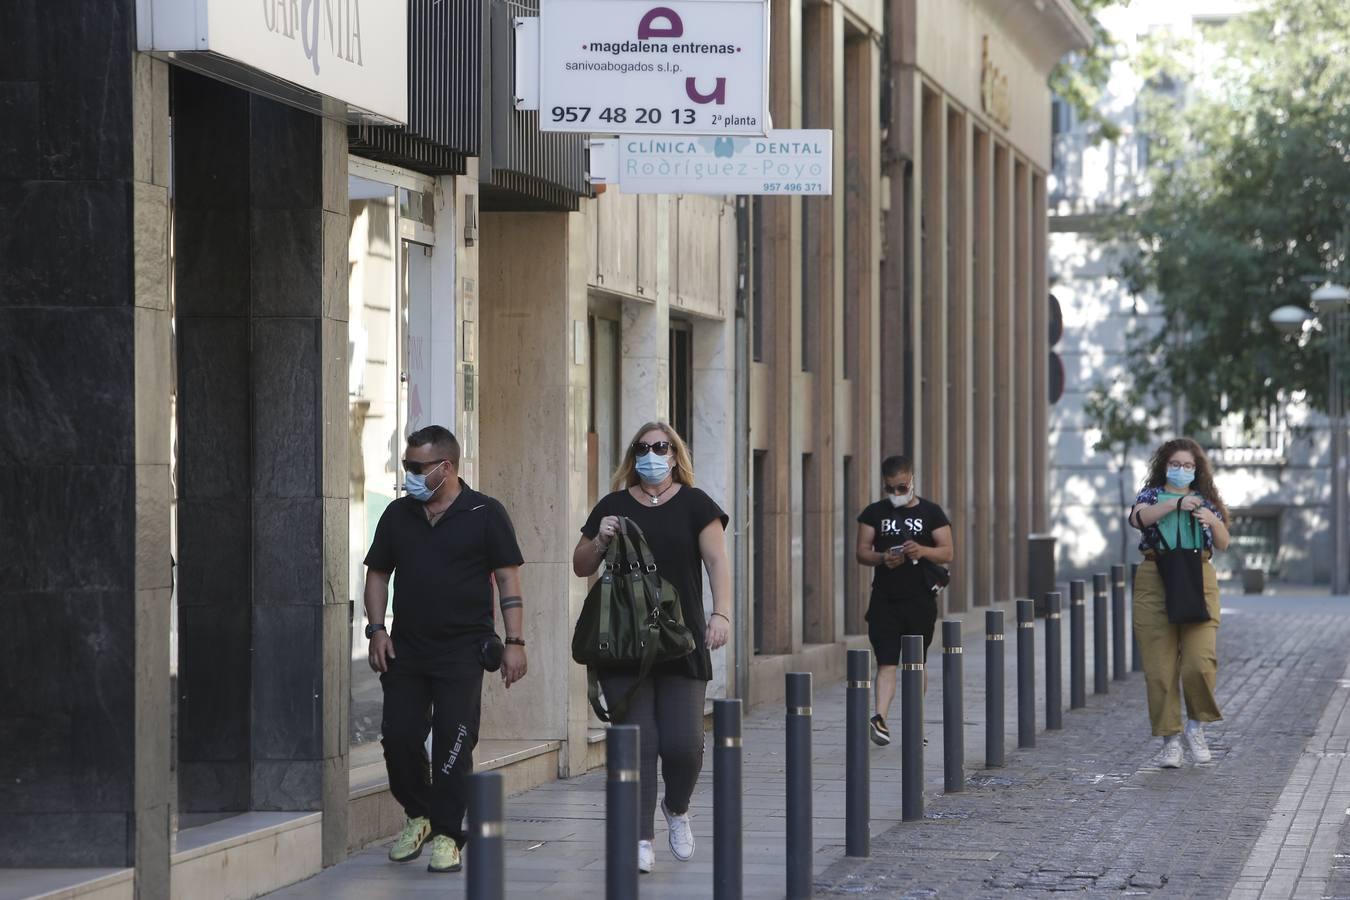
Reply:
M319 320L252 322L254 495L319 497Z

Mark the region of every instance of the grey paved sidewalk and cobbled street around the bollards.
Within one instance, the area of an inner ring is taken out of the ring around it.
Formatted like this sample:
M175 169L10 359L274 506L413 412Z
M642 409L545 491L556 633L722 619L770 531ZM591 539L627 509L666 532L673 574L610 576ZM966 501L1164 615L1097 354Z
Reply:
M1230 609L1231 607L1231 609ZM1091 602L1088 604L1091 618ZM1065 712L1062 731L1044 731L1044 685L1038 673L1037 748L1017 750L1015 617L1007 615L1007 766L984 770L983 617L965 626L965 749L969 789L942 795L941 664L929 657L930 691L925 760L927 818L899 822L899 746L873 748L872 857L842 860L844 688L817 684L813 760L817 893L882 897L996 897L1013 892L1075 891L1119 895L1222 897L1322 896L1336 877L1327 838L1304 846L1299 810L1316 804L1318 823L1334 804L1323 785L1345 769L1310 762L1304 749L1320 739L1322 761L1345 748L1350 712L1327 723L1330 702L1343 710L1350 690L1339 687L1350 656L1350 602L1327 598L1235 598L1226 602L1220 629L1220 702L1227 719L1211 729L1215 761L1180 770L1152 768L1157 742L1149 735L1143 677L1111 681L1094 696L1088 629L1088 708ZM1068 617L1064 619L1065 654ZM1044 664L1044 622L1037 627L1037 664ZM1064 699L1068 702L1065 660ZM1324 715L1326 714L1326 715ZM899 706L892 711L898 718ZM784 872L783 712L776 704L745 721L745 896L782 897ZM898 722L896 722L898 723ZM1319 730L1319 723L1324 727ZM1338 730L1341 729L1341 730ZM896 729L898 731L898 729ZM1318 737L1322 731L1326 735ZM1341 739L1341 745L1335 741ZM1343 754L1342 754L1343 756ZM707 769L711 768L711 753ZM603 772L548 784L508 800L508 892L512 897L599 896L603 892ZM1292 779L1292 780L1291 780ZM1295 795L1285 796L1287 789ZM1336 800L1335 803L1339 803ZM1284 831L1272 818L1293 810ZM1350 806L1350 804L1346 804ZM657 868L641 880L644 897L711 896L711 777L705 772L693 801L699 838L693 862L666 849L657 815ZM1330 822L1330 819L1327 819ZM1273 830L1272 830L1273 828ZM1266 833L1269 831L1269 835ZM1316 834L1316 831L1314 831ZM1334 834L1334 831L1331 833ZM1260 842L1258 842L1260 839ZM1276 849L1266 876L1260 862ZM1266 855L1262 855L1265 851ZM421 862L396 866L373 847L281 897L456 896L462 876L431 876ZM1281 855L1284 854L1284 855ZM1239 885L1239 876L1242 878ZM1320 887L1319 887L1320 885ZM1254 891L1256 893L1250 893ZM1265 891L1265 893L1261 893Z

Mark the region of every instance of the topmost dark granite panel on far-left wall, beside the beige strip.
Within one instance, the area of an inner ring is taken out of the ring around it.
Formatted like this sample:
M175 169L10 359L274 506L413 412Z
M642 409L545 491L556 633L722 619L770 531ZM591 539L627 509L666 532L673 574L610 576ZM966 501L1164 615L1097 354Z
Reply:
M135 5L103 0L94 8L38 7L45 178L131 178Z

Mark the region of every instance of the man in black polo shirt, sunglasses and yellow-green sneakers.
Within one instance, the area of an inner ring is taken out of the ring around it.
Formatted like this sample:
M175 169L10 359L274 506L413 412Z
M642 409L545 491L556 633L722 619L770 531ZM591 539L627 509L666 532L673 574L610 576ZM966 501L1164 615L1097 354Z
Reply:
M404 471L408 494L385 509L366 555L366 638L370 668L381 672L385 688L385 765L389 789L408 815L389 858L414 860L429 839L427 869L458 872L483 667L501 653L508 688L525 676L524 560L502 505L459 478L459 441L447 429L428 425L413 432ZM389 634L383 622L396 572L397 615ZM505 652L493 627L494 579Z

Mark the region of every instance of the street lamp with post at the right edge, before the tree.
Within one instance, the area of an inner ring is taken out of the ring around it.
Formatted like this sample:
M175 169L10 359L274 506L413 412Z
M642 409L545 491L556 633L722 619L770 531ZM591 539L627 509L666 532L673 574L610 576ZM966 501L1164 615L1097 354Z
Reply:
M1346 530L1346 403L1341 371L1341 356L1346 351L1346 310L1350 308L1350 289L1326 281L1312 291L1312 309L1322 320L1327 332L1330 358L1330 385L1327 390L1327 420L1331 426L1331 592L1346 594L1350 590L1347 573L1347 530ZM1270 324L1284 335L1303 331L1307 310L1299 306L1281 306L1270 313Z

